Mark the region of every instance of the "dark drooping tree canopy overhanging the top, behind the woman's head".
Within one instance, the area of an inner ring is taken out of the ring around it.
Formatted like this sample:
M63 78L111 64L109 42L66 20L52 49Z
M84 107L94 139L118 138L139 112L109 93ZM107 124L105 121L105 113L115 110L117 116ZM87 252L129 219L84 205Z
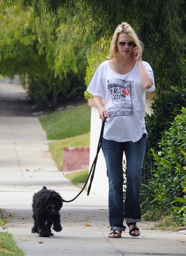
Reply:
M79 24L91 35L89 44L105 38L109 44L115 27L127 21L135 28L145 46L156 81L156 92L186 82L186 5L184 0L6 0L6 5L32 6L37 17L43 13L59 18L62 8L79 16ZM64 14L62 12L61 14Z

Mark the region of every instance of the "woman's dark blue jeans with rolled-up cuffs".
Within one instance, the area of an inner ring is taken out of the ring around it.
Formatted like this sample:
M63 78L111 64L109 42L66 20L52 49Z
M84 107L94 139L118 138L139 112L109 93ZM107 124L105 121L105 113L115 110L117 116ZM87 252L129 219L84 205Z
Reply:
M139 204L140 185L146 134L137 142L102 141L102 151L107 165L109 178L109 223L111 230L125 231L124 218L127 222L141 221ZM126 198L123 202L123 152L126 157Z

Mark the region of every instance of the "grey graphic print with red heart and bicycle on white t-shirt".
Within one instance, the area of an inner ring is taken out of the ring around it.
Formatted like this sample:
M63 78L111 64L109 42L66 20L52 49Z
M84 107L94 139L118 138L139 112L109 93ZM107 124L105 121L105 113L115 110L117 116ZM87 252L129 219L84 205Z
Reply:
M134 116L134 81L119 78L107 80L107 88L111 95L112 106L109 108L109 118L114 116Z

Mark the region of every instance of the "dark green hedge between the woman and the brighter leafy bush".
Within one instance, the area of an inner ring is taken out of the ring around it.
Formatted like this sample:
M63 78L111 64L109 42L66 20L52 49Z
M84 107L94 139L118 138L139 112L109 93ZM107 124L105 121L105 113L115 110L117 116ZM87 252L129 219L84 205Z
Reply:
M143 183L148 184L152 177L154 169L154 159L151 148L155 151L159 150L159 142L163 132L168 131L171 122L175 116L180 113L183 107L186 107L186 88L171 86L170 90L166 90L161 94L157 94L153 98L152 113L146 114L146 129L148 131L148 139L146 141L146 154L144 158Z

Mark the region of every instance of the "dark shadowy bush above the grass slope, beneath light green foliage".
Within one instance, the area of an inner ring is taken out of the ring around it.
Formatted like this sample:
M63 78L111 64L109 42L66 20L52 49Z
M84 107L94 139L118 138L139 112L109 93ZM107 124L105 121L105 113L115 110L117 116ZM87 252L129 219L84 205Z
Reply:
M82 71L78 74L69 72L63 78L55 77L54 71L48 70L43 75L35 74L29 76L29 95L38 106L53 102L55 106L59 99L79 100L83 98L86 88Z

